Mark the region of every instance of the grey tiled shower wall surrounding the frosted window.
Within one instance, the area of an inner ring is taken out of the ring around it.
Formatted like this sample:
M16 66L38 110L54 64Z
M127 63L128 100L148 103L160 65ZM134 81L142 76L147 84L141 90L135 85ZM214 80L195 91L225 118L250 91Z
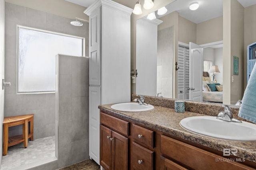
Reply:
M34 139L52 136L55 134L55 94L17 94L17 25L85 37L88 56L88 23L75 27L70 25L72 19L8 2L5 2L5 21L5 79L12 85L5 89L4 116L34 113ZM21 133L21 127L10 129L10 136Z

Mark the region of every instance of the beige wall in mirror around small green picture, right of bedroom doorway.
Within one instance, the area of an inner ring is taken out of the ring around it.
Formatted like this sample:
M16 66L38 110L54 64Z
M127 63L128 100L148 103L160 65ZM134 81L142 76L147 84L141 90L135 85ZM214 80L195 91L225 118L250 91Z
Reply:
M233 75L234 55L239 75ZM236 0L223 1L223 63L223 104L235 104L244 94L244 8Z

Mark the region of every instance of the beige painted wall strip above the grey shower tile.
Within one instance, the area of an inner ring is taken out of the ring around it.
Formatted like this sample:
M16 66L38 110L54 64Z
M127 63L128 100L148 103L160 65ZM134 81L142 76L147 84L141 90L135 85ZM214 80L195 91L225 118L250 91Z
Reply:
M76 19L80 18L82 20L89 20L89 17L84 14L85 7L73 4L65 0L5 0L12 4L24 6L27 8L32 8L42 12L47 12L57 16L62 16L65 18Z

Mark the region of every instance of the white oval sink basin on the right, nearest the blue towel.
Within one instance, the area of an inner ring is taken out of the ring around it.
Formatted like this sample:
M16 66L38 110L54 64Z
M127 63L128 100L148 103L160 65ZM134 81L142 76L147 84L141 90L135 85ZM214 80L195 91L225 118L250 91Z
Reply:
M194 116L182 119L180 125L189 131L209 137L231 141L256 141L256 125L245 121L235 123L213 116Z

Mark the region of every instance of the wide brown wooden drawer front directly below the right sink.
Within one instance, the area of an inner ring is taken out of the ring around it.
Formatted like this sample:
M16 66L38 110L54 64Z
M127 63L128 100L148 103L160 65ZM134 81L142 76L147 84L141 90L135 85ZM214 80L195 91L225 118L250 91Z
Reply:
M189 169L224 169L224 170L252 170L252 168L238 162L225 162L223 156L202 150L200 148L161 135L161 152L175 162L188 166Z

